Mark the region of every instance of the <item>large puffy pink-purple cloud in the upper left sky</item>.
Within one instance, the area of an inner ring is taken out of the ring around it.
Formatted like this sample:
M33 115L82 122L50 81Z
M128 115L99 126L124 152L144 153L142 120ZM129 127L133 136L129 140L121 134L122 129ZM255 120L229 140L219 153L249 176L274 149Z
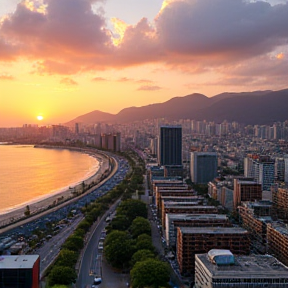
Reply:
M15 57L36 60L41 73L74 74L104 66L101 57L107 57L113 45L105 20L93 13L91 1L46 0L41 12L33 3L37 1L30 1L29 7L25 1L19 3L2 21L5 40L21 48Z

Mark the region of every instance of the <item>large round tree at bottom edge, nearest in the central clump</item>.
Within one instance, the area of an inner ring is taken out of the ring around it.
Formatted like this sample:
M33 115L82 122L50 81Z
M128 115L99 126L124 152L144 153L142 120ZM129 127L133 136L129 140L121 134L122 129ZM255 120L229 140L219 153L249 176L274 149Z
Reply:
M169 281L169 268L165 262L156 259L140 261L130 271L133 288L166 286Z

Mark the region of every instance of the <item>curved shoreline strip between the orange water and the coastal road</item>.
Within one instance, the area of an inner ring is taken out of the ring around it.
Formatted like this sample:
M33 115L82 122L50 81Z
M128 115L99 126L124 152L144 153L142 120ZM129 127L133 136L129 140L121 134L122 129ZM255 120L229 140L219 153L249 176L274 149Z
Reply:
M58 190L55 193L47 194L47 196L41 196L45 197L42 199L31 199L30 201L27 201L26 203L19 204L19 207L11 208L12 210L7 210L7 212L3 211L0 214L0 228L5 227L9 224L15 223L19 221L20 219L25 219L27 217L24 217L24 212L26 211L27 205L30 209L30 215L36 215L38 213L41 213L43 211L46 211L49 209L49 207L57 207L57 205L62 204L66 202L67 200L73 199L77 196L79 196L84 188L87 187L93 187L98 182L100 182L100 179L102 175L109 169L109 160L107 159L104 154L101 154L99 151L93 151L92 149L81 149L77 147L67 147L67 146L42 146L42 145L35 145L35 148L48 148L48 149L68 149L73 151L79 151L85 154L88 154L92 157L95 157L98 162L99 166L98 169L93 173L93 175L89 176L86 179L83 179L73 186L69 186L68 189L65 190ZM71 149L70 149L71 148ZM76 148L76 149L74 149ZM60 188L61 189L61 188ZM29 217L27 218L29 219Z

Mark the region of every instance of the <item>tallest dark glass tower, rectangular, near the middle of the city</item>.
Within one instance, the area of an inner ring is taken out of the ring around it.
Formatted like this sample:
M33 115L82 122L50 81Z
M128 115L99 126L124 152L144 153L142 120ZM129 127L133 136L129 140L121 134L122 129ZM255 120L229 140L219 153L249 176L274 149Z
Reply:
M159 165L182 165L182 127L161 126L158 148Z

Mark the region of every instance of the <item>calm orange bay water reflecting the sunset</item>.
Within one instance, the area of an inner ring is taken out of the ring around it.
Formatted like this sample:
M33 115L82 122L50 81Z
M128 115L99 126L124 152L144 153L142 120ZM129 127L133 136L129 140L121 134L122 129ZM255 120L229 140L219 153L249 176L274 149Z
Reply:
M99 161L68 149L0 145L0 215L94 175Z

